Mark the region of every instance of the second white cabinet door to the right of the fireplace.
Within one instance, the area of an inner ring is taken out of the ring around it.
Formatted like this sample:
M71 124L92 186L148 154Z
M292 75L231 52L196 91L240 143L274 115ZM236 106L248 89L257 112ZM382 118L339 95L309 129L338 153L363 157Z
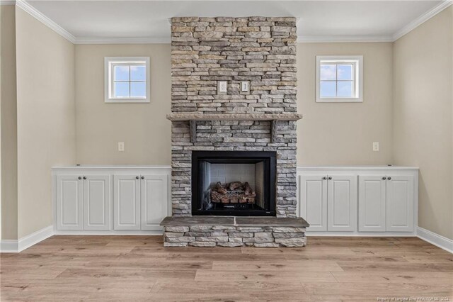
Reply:
M357 230L357 176L329 175L327 230Z

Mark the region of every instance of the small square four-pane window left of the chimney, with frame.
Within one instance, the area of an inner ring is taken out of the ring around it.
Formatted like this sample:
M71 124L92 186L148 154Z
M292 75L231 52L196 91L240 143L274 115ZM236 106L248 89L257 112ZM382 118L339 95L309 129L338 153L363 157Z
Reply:
M105 103L149 103L149 57L105 57Z

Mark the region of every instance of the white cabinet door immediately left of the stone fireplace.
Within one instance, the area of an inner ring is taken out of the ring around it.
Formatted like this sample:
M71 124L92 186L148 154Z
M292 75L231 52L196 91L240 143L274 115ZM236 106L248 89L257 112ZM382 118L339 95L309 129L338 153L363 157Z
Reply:
M162 219L168 214L168 177L142 175L142 230L159 230Z

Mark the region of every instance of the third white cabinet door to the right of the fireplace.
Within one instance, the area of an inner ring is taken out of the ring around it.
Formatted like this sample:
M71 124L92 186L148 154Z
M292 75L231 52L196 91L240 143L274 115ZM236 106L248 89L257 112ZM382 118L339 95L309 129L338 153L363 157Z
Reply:
M385 232L385 194L384 175L359 177L359 231Z

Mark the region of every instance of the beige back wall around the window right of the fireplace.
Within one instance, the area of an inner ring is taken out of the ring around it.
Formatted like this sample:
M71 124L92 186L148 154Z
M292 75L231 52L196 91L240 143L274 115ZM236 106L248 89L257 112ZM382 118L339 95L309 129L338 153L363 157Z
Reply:
M363 103L315 102L316 55L363 55ZM299 43L297 85L298 167L392 162L392 43Z

